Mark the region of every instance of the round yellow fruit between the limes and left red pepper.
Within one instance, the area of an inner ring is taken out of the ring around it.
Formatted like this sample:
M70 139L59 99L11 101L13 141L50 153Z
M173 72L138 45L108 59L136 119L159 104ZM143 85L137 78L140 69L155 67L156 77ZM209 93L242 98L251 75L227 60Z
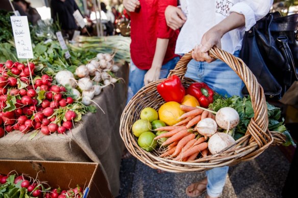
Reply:
M180 122L180 116L184 114L178 102L166 102L158 110L159 120L163 121L166 125L172 126Z

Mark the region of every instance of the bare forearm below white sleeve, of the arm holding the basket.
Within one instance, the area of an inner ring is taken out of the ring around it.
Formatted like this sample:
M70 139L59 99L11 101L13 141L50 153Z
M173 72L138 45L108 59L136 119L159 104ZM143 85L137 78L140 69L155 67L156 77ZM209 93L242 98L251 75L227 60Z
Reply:
M225 19L220 21L218 24L212 27L218 31L221 37L226 34L227 32L234 30L238 27L245 25L245 17L243 14L238 14L236 12L232 12L229 16Z

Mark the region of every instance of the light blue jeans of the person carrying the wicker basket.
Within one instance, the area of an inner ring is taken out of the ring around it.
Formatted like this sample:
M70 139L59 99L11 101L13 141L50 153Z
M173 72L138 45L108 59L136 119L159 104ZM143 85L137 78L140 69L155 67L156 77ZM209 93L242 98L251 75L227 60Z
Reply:
M234 55L238 57L239 51L236 51ZM191 60L187 65L185 77L205 82L211 89L222 96L242 96L241 90L244 82L226 63L220 60L212 63ZM220 195L226 183L228 170L229 166L223 166L206 171L208 179L207 193L209 196L217 197Z

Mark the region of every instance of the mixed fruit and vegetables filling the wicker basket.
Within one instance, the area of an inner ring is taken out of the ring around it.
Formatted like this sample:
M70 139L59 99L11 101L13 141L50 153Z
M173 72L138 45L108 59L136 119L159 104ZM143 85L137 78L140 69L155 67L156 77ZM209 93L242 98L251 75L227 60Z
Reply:
M254 116L250 98L223 98L202 82L185 90L176 75L158 84L157 91L164 104L142 109L132 132L139 147L160 157L193 161L220 153L245 134ZM269 130L288 133L279 121L280 109L268 103L267 108Z

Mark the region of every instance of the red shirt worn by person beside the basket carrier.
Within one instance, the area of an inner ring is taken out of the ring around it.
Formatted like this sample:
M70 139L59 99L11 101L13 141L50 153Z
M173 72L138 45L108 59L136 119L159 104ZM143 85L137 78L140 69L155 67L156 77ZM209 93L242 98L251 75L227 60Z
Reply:
M163 65L175 58L175 46L179 30L173 31L165 21L168 5L177 6L177 0L140 0L138 13L131 12L131 58L143 70L151 68L157 38L169 39Z

